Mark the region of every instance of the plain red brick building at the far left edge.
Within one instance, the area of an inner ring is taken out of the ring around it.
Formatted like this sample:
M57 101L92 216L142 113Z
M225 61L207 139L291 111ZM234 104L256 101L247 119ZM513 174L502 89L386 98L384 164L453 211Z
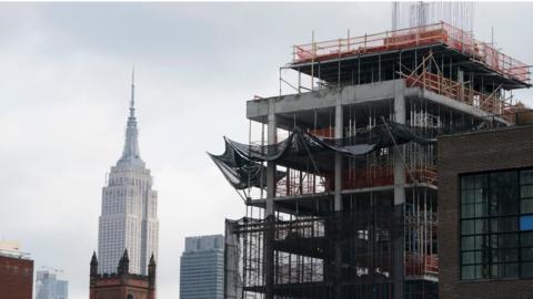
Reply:
M0 298L31 299L32 290L33 260L0 252Z

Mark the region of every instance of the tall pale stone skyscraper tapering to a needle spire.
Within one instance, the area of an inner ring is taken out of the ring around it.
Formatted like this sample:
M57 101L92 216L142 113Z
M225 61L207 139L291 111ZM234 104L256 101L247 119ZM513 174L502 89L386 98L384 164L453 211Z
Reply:
M147 275L153 254L158 257L158 194L152 176L139 154L134 109L134 82L131 80L130 115L122 156L102 189L102 214L99 219L99 272L111 274L128 249L130 272Z

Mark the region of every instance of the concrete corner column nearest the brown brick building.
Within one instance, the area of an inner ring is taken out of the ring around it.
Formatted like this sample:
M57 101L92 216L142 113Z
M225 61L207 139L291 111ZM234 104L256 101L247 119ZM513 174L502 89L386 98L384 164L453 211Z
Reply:
M394 121L405 124L405 83L395 81L394 84ZM403 161L403 146L394 148L394 212L393 212L393 280L394 299L404 296L405 278L405 249L404 249L404 219L403 207L405 203L405 164Z

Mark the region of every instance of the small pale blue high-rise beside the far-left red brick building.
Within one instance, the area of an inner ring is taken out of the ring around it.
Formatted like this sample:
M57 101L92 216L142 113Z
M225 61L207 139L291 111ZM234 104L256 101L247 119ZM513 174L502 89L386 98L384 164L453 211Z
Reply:
M58 279L56 270L38 270L36 279L36 299L69 298L69 282Z

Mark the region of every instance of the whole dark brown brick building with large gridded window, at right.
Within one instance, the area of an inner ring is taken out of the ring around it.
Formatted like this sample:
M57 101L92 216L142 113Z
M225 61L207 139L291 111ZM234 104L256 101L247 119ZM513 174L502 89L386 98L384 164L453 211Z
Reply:
M440 298L533 298L533 126L439 138Z

